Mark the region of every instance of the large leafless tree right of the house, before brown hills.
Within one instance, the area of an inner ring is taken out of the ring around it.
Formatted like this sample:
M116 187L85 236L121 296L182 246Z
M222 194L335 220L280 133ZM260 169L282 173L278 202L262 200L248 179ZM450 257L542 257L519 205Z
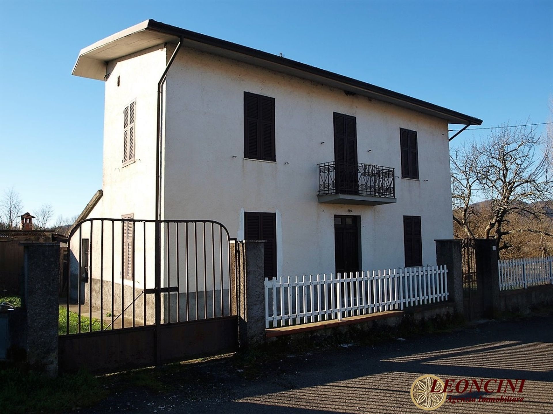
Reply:
M515 233L553 237L551 170L543 148L545 138L525 125L494 129L482 142L454 152L453 221L458 229L468 237L494 238L500 251L513 246L505 236Z

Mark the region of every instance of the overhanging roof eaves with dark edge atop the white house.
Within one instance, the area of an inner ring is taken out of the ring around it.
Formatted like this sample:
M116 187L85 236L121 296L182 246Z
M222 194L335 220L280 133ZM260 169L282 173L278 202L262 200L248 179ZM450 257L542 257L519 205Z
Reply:
M182 46L184 47L228 57L229 59L250 63L254 66L264 67L276 72L325 84L333 88L342 89L347 93L359 94L368 98L392 103L403 108L445 119L450 124L482 124L481 119L473 118L472 116L440 107L424 100L325 71L315 66L306 65L305 63L286 59L285 57L226 40L212 38L211 36L156 22L151 19L119 31L82 49L72 73L76 76L103 80L106 76L107 62L166 42L177 43L179 39L182 40Z

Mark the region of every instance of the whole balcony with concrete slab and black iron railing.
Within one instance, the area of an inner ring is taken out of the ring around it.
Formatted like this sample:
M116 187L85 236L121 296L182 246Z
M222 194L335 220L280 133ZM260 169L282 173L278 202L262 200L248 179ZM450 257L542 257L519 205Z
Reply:
M319 203L379 205L395 203L394 168L324 162L319 165Z

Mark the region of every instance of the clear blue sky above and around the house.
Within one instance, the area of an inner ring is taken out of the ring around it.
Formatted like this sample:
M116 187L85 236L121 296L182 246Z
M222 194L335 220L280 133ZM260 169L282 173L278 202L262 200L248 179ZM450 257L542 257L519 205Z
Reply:
M0 194L13 185L25 211L49 203L55 217L79 214L102 185L103 84L71 76L79 50L148 18L282 52L482 126L550 114L550 0L0 0L0 15Z

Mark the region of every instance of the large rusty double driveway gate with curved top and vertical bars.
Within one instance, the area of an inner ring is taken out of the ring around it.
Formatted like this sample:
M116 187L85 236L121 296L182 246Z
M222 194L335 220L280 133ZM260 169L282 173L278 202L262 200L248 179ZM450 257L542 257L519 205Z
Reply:
M60 371L237 351L235 242L211 220L80 222L60 298Z

